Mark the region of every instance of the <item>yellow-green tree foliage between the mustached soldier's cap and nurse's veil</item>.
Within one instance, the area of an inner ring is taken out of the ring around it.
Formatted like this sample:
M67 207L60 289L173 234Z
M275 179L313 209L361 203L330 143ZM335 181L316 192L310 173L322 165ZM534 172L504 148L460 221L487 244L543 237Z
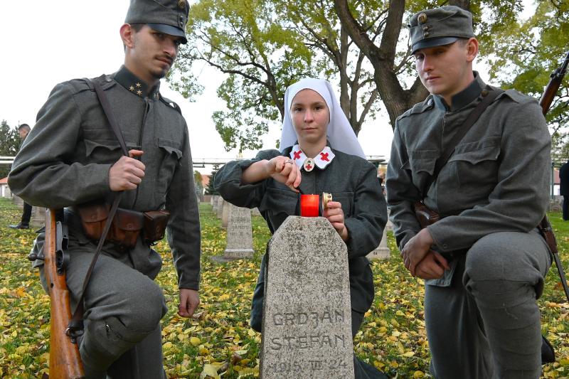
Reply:
M213 115L225 149L259 149L271 122L282 119L288 85L312 73L312 54L295 31L275 22L272 1L201 0L188 20L179 73L205 62L228 74L218 88L227 110Z

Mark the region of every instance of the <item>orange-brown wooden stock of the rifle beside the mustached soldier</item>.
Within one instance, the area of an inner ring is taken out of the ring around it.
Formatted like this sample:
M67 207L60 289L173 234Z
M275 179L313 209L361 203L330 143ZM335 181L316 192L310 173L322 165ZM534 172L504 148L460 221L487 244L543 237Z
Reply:
M55 379L83 378L83 363L79 355L77 343L72 343L65 334L71 319L69 290L65 283L65 274L58 274L56 242L55 210L46 210L46 242L43 245L45 256L44 272L49 289L50 316L50 353L49 374Z

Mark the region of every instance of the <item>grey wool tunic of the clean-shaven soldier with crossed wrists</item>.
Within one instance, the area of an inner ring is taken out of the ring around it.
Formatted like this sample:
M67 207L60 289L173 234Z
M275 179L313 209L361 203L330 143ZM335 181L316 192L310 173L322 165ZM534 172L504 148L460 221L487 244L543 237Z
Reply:
M400 249L420 230L413 203L423 197L445 216L428 227L442 252L491 233L527 233L546 213L551 137L538 102L515 90L489 105L422 196L435 161L489 87L475 76L452 108L430 95L397 119L385 187Z

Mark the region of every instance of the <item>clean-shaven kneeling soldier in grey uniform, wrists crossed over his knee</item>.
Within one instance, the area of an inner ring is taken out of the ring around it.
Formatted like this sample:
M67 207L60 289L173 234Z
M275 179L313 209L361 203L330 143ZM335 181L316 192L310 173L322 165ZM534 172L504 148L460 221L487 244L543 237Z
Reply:
M409 28L430 95L397 119L386 191L405 267L425 279L431 373L538 378L536 298L551 265L536 229L548 205L551 163L541 108L515 90L501 93L425 190L464 119L495 89L472 70L478 41L468 11L422 11ZM442 216L425 229L413 208L420 200Z

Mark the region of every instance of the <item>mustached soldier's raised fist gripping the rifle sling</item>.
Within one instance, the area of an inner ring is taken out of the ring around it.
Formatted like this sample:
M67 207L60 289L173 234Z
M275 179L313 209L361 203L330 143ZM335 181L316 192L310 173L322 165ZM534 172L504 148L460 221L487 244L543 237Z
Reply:
M144 178L146 166L134 159L142 156L144 151L130 150L129 156L121 156L109 170L109 186L111 191L127 191L136 189Z

